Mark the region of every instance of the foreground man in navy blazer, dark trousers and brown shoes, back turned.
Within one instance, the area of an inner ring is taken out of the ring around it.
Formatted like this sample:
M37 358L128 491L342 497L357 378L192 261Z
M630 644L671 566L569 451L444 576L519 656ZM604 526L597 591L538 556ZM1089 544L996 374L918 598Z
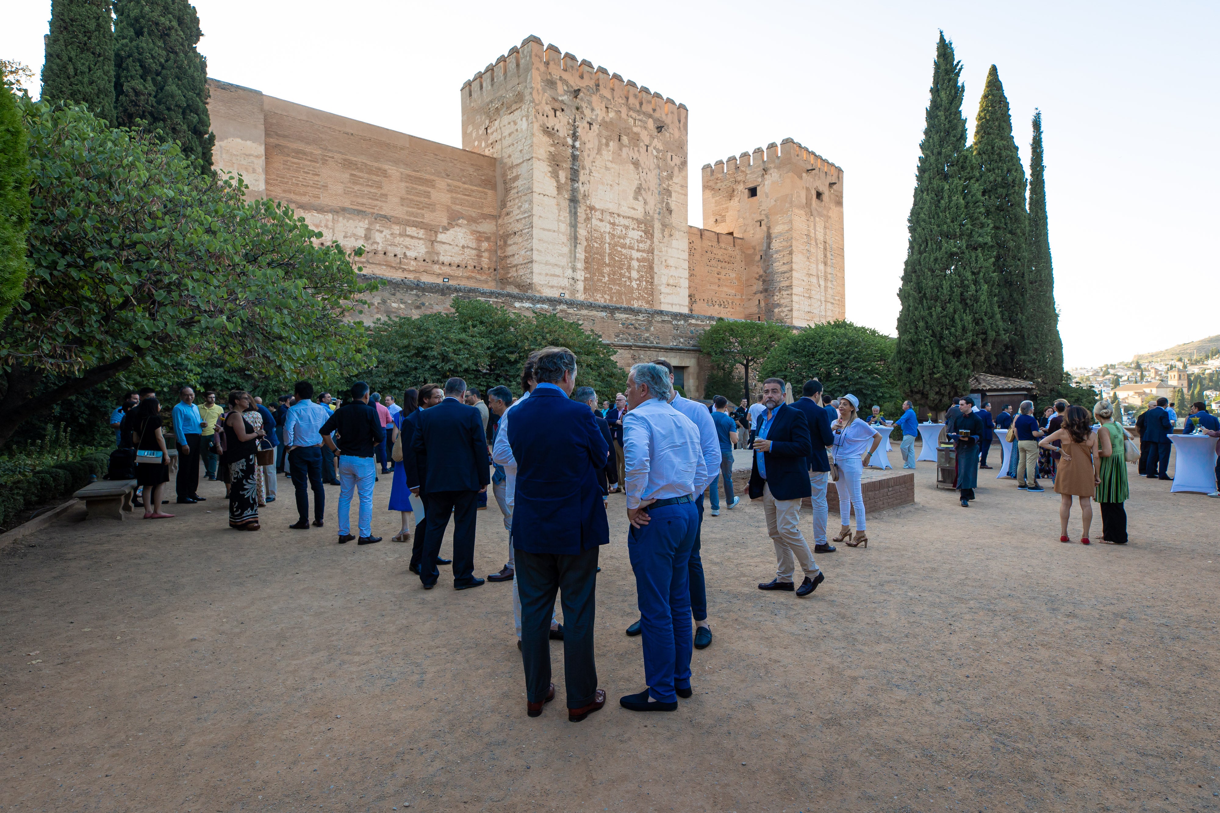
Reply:
M508 440L517 462L512 547L521 598L521 656L526 713L542 714L555 697L550 681L550 620L555 594L564 605L567 719L583 720L605 705L593 658L598 550L610 541L598 472L610 446L589 407L569 395L576 356L547 347L534 362L529 397L512 410Z

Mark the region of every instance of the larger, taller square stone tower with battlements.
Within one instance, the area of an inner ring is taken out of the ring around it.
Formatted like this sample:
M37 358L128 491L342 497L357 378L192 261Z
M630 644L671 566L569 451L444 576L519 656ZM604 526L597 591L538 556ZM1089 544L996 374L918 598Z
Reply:
M498 288L689 310L686 105L528 37L461 88L497 158Z

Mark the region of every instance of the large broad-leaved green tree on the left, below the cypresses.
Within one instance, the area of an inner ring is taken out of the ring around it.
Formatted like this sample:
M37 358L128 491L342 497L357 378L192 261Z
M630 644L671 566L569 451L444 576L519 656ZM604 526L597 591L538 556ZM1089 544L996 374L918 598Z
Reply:
M290 208L217 184L173 143L78 106L23 105L30 273L0 324L0 445L120 375L209 363L321 378L368 363L364 325L345 317L373 285Z

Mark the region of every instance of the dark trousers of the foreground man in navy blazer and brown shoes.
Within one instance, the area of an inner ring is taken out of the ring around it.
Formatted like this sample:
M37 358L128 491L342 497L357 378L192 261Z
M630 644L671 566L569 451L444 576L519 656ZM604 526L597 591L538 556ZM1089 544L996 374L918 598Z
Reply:
M555 611L555 594L559 592L564 605L564 680L567 707L588 706L598 690L598 668L593 657L598 547L575 556L518 550L516 564L526 700L531 703L542 702L550 687L550 617Z

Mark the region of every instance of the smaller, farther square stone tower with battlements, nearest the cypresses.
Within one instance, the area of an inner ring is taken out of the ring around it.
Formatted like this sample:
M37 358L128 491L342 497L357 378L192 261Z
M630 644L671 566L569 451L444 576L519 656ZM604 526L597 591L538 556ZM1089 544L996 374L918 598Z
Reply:
M744 238L756 268L745 318L800 327L844 318L843 169L786 138L702 174L703 227Z

